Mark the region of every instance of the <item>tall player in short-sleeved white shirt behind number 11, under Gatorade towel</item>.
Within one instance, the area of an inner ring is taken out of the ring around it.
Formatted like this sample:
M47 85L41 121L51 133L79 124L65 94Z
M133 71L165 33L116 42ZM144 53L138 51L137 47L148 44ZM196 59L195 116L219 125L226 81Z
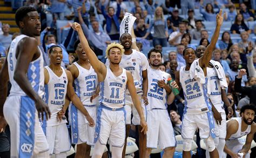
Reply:
M137 95L140 99L140 104L142 105L144 117L146 116L147 101L147 68L149 68L149 62L146 56L132 49L132 36L129 33L124 33L120 37L120 43L124 47L124 54L120 63L120 67L125 68L125 70L130 71L133 76L134 85L136 87ZM135 46L136 47L136 46ZM106 61L106 65L109 65L109 61ZM132 124L138 126L140 124L140 118L136 108L132 104L131 95L126 91L125 95L125 111L126 111L126 139L129 136L129 131L131 128L131 113L133 115ZM138 126L139 130L142 130L141 126ZM126 140L125 139L125 140ZM139 132L139 156L144 157L146 152L146 135ZM123 150L123 157L125 156L126 143Z

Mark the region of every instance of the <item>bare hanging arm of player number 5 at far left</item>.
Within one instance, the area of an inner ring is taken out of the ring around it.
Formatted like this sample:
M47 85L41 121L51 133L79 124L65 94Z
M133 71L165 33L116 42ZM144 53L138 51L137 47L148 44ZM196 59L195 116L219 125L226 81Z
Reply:
M19 87L21 87L22 91L25 92L26 95L28 95L33 101L35 101L38 115L45 112L46 119L48 119L51 115L50 109L48 105L45 104L43 99L33 90L27 76L30 62L39 58L39 55L37 54L37 51L39 51L37 46L37 40L31 37L24 38L21 40L21 42L19 42L16 53L17 61L14 70L14 80Z

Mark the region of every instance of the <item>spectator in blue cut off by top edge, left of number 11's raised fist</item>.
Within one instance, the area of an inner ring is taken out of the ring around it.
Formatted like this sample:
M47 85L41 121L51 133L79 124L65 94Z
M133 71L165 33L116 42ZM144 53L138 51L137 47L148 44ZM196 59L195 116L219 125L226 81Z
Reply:
M51 13L54 20L64 20L65 1L51 0Z

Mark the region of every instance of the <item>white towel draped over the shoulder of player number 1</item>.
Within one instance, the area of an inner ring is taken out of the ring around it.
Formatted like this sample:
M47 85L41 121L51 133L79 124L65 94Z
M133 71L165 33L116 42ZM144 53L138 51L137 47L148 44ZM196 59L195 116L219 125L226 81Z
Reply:
M223 89L227 88L227 80L226 80L225 72L222 65L219 63L219 61L214 61L214 60L210 60L210 63L213 65L213 67L215 68L218 74L220 87Z

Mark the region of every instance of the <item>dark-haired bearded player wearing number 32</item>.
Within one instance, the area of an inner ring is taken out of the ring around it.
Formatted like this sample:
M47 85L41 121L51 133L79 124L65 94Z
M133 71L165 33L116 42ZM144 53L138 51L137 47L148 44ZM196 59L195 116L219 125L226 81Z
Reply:
M163 157L173 157L176 140L173 133L172 123L167 111L167 95L171 93L171 87L167 85L167 79L171 75L160 70L162 54L156 49L152 49L147 54L150 61L150 68L147 70L149 79L149 90L147 98L147 149L146 156L150 157L152 148L157 148L159 144L164 149ZM175 83L175 81L174 81ZM173 84L174 84L173 83ZM178 86L175 84L176 88Z

